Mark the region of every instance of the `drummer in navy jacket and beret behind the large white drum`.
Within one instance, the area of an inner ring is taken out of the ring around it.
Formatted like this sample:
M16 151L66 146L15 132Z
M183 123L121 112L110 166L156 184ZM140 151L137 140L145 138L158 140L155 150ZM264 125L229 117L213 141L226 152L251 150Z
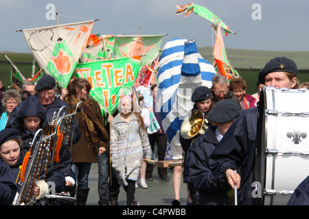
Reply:
M258 79L265 86L298 89L297 66L286 57L275 57L260 70ZM238 205L255 205L251 187L255 177L255 142L258 107L243 110L210 156L211 171L225 190L237 185ZM236 172L235 172L236 170Z

